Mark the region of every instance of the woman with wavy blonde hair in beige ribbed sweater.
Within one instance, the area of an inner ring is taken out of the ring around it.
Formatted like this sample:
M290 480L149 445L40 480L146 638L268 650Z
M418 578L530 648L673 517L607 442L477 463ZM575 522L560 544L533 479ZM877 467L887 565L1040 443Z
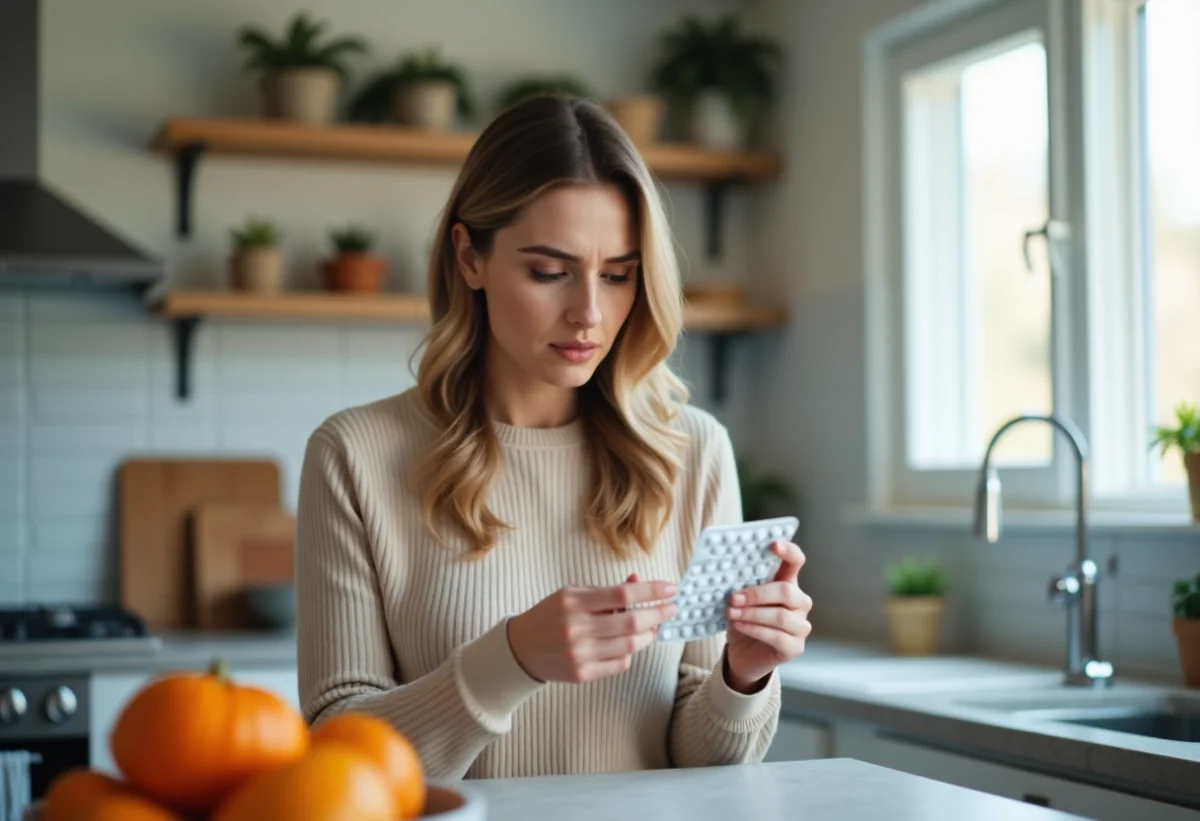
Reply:
M774 670L810 630L804 559L775 545L727 640L655 642L697 535L740 521L740 498L725 429L667 368L667 223L601 107L538 97L484 131L430 299L418 385L308 441L306 718L380 715L434 779L761 760Z

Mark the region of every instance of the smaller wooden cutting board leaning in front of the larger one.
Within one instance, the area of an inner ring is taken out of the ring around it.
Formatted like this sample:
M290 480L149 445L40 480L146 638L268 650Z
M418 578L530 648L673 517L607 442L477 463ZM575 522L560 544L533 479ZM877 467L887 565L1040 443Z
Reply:
M197 627L252 627L239 593L246 585L295 580L295 517L270 505L198 505L192 559Z

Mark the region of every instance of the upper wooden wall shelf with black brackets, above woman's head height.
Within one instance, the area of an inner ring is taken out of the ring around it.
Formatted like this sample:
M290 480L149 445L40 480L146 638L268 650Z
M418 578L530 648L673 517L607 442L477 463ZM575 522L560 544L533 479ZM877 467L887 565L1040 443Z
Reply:
M382 162L455 167L474 144L470 132L422 132L398 126L302 125L265 119L168 118L152 148L175 161L180 236L191 234L192 184L205 154L336 162ZM662 180L690 180L706 186L709 256L720 254L725 194L737 182L763 181L782 170L776 152L724 151L697 145L655 144L641 149L650 170Z

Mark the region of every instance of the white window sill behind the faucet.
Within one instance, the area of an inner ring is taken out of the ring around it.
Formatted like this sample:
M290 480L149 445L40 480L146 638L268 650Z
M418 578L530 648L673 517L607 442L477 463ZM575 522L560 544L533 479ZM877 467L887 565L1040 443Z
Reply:
M971 533L970 508L842 508L842 521L869 531L953 531ZM1075 511L1020 510L1006 505L1001 513L1004 533L1072 533ZM1088 533L1136 533L1138 535L1193 537L1200 540L1200 523L1186 513L1132 513L1088 510Z

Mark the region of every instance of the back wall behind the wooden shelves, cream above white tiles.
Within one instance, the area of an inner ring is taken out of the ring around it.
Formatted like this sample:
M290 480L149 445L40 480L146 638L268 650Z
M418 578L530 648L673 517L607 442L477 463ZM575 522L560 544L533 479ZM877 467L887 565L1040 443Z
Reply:
M575 71L599 96L641 88L658 35L686 12L734 0L44 0L41 170L55 188L162 257L175 284L224 283L228 230L248 214L287 232L294 287L316 284L328 229L362 221L394 264L392 288L422 287L424 254L452 169L210 158L197 175L194 235L174 236L173 168L149 149L168 115L257 113L241 73L240 25L278 31L312 10L334 31L365 32L364 70L403 49L443 43L461 59L482 115L497 91L533 71ZM479 124L475 124L476 127ZM726 254L703 254L696 186L666 190L690 275L740 278L746 196L736 193ZM329 413L412 384L415 329L210 323L197 336L194 394L174 398L169 328L127 298L0 292L0 606L116 597L114 471L134 454L272 455L294 504L308 432ZM734 395L712 407L734 441L749 431L748 364L731 361ZM707 346L679 366L707 403Z

